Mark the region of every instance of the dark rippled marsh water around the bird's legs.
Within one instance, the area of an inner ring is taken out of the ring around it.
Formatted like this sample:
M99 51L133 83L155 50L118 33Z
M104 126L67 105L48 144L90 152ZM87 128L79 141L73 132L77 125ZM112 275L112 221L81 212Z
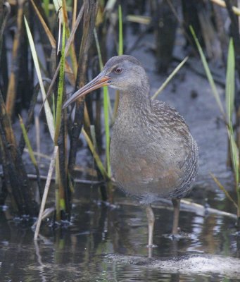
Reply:
M181 235L172 239L172 209L162 207L154 209L157 247L153 259L147 259L147 220L141 207L118 193L115 205L99 203L98 191L91 188L77 193L72 225L55 231L42 226L35 243L32 223L7 221L0 214L1 281L220 281L217 274L152 266L160 259L172 262L191 254L238 256L234 219L182 211Z

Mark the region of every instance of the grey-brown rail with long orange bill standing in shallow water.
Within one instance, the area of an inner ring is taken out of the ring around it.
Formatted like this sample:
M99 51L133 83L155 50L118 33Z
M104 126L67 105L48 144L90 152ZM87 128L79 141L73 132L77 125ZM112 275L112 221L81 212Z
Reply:
M147 246L152 248L155 216L151 204L160 198L172 200L172 235L177 235L180 200L191 190L198 171L198 146L177 110L151 99L149 78L133 56L110 58L63 109L103 86L120 92L110 140L112 177L121 190L146 207Z

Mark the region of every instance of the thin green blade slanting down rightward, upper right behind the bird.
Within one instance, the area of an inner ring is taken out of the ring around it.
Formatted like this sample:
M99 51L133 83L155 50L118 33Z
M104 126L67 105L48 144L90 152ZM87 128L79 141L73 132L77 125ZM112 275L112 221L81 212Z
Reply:
M198 48L198 52L199 52L199 54L201 56L201 61L203 63L203 67L205 69L208 81L210 83L210 87L212 88L213 95L214 95L215 100L217 102L217 106L219 107L219 109L220 109L220 111L222 113L222 116L225 117L225 111L224 111L223 106L222 106L222 102L221 102L221 99L220 99L220 94L217 91L217 87L216 87L215 82L213 80L213 75L210 73L210 68L208 66L208 62L206 60L205 55L203 54L203 49L201 48L201 45L198 42L198 39L197 39L196 34L194 32L194 29L191 26L190 26L190 30L191 30L191 34L194 37L194 40L195 40L195 43L196 43L196 47Z

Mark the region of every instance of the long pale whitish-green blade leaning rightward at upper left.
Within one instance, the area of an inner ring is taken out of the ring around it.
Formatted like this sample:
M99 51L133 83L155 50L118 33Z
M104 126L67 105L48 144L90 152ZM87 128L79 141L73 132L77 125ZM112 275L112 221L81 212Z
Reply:
M41 92L42 92L42 99L45 100L46 92L45 92L45 89L44 89L44 82L42 80L42 74L41 74L40 67L39 67L39 61L37 59L37 52L36 52L36 49L35 49L35 46L34 46L34 42L33 42L33 39L32 39L32 34L30 32L29 25L28 25L25 17L24 17L24 20L25 20L25 26L26 26L26 30L27 30L27 37L28 37L30 49L31 49L31 52L32 52L32 59L34 61L34 66L35 66L35 69L36 69L37 78L39 80L39 85L40 85L40 89L41 89ZM46 113L46 122L47 122L47 125L49 127L49 133L51 135L52 140L54 140L55 129L54 129L54 123L53 123L53 115L51 113L51 109L50 109L48 101L46 101L44 103L44 110L45 110L45 113Z

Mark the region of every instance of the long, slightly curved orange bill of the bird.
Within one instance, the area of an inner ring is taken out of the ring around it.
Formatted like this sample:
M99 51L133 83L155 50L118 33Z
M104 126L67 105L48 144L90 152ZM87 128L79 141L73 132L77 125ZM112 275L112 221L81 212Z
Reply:
M94 78L93 80L88 82L87 85L84 85L84 87L80 88L80 90L77 90L77 92L72 94L72 96L63 104L63 109L69 106L72 102L75 102L79 97L82 97L87 93L96 90L102 86L108 86L109 80L109 76L99 73L96 78Z

